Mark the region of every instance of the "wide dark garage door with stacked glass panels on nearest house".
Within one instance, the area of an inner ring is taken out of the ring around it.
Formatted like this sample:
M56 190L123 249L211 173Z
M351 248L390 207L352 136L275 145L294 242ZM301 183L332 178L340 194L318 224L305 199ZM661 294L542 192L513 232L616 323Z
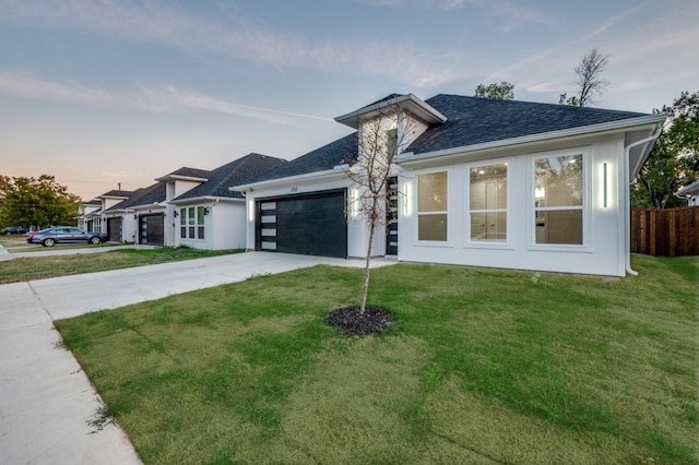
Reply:
M258 201L257 249L347 257L345 191Z

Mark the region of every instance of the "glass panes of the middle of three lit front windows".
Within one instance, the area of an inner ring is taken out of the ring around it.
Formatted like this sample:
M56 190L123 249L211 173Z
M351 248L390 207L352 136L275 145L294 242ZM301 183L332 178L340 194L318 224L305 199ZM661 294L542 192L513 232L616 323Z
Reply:
M469 218L474 242L507 241L507 164L469 170Z

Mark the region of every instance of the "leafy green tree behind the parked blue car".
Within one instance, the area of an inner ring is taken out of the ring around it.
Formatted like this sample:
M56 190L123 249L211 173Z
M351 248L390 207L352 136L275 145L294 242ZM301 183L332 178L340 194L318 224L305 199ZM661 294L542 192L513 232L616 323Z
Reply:
M2 224L34 227L74 224L80 198L69 193L52 176L8 179L0 205Z

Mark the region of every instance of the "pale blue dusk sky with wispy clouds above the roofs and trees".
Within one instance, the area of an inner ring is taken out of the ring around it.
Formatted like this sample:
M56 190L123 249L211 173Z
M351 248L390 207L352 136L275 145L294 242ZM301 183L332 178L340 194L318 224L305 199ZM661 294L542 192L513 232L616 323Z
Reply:
M699 91L699 1L0 0L0 175L84 200L250 152L292 159L391 93L572 95L599 47L599 107Z

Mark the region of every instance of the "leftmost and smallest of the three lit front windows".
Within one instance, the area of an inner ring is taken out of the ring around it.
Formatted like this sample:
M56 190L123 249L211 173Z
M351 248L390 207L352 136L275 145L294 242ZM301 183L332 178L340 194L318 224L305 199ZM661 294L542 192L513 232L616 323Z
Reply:
M417 240L447 241L447 171L417 177Z

